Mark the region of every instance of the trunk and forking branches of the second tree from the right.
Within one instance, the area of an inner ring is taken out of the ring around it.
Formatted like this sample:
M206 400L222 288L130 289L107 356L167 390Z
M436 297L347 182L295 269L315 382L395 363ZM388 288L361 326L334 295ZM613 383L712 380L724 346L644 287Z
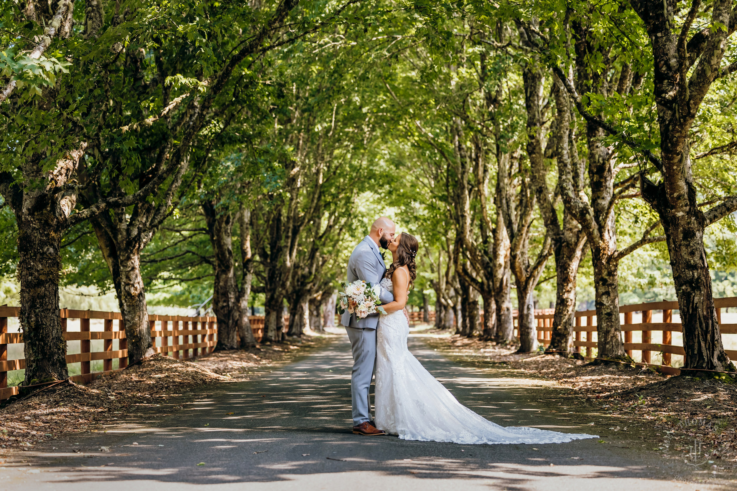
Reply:
M592 116L587 112L578 91L601 96L607 96L610 91L616 91L624 96L638 90L642 77L638 74L633 75L631 68L624 64L618 71L618 82L609 83L610 80L607 77L611 77L613 67L613 60L609 57L611 46L598 42L587 22L586 19L576 18L571 23L576 53L575 82L570 79L573 68L569 74L564 74L559 68L556 68L553 83L557 85L556 105L559 110L565 107L573 110L572 105L575 104L581 116L584 116L586 120L590 199L586 198L587 194L583 189L586 166L584 160L579 159L576 152L577 138L573 131L574 122L571 123L569 130L568 153L557 155L559 190L567 212L581 225L581 230L586 234L591 250L596 287L598 358L629 360L624 352L624 340L621 336L619 322L618 264L622 258L639 247L662 241L665 238L650 236L658 225L655 222L645 230L639 241L621 250L617 247L614 205L618 199L627 197L627 191L635 187L637 175L632 174L620 181L615 180L618 172L624 167L615 166L615 148L604 144L606 135L604 127L598 123L600 120L597 120L597 116ZM568 32L567 26L565 29ZM590 64L592 58L601 60L607 69L593 69ZM617 79L615 77L612 80ZM633 84L633 80L638 80L638 82Z

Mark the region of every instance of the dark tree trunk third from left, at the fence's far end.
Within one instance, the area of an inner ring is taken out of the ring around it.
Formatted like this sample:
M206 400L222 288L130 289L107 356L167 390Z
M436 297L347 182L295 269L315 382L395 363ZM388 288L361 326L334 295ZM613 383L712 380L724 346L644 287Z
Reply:
M217 316L215 351L238 349L240 305L233 266L233 217L215 202L203 202L207 230L215 256L212 310Z

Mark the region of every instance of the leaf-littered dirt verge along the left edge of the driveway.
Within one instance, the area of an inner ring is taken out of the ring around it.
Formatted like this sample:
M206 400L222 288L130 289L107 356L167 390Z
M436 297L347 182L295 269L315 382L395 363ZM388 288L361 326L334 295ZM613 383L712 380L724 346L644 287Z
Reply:
M337 337L320 333L190 360L154 356L86 386L58 384L0 409L0 464L24 451L51 448L56 439L102 431L104 425L133 421L144 413L167 416L182 409L186 393L203 396L212 384L258 377Z

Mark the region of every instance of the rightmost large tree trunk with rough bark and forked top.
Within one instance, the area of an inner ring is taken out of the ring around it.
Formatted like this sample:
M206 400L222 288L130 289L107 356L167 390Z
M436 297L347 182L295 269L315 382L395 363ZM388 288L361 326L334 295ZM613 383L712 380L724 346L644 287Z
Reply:
M716 374L708 370L733 371L735 368L722 346L704 249L704 229L733 213L737 202L730 197L705 213L699 210L700 198L691 169L688 140L699 107L713 82L733 70L722 61L724 54L734 46L729 38L736 29L736 12L731 1L715 1L702 13L699 13L699 4L693 3L691 13L696 17L689 14L685 21L689 24L684 24L682 32L695 27L690 24L694 19L698 19L698 25L699 17L709 10L710 25L720 29L710 29L708 35L703 31L696 33L688 41L687 50L681 44L682 34L679 35L669 23L677 11L674 1L664 3L663 9L660 4L656 8L654 2L646 0L634 1L632 7L642 18L652 43L653 95L660 127L661 162L657 167L663 176L655 186L641 174L642 196L660 215L666 232L683 329L685 374L696 375L699 370L705 370L702 375L713 376ZM692 46L691 41L699 34L705 37ZM686 77L694 62L694 69Z

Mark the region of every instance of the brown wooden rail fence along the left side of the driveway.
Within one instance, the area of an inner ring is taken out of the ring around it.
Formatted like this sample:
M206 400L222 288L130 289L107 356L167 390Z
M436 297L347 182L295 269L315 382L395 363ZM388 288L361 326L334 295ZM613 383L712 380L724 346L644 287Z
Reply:
M8 317L18 317L19 307L0 306L0 400L18 394L18 387L7 386L7 372L23 370L23 358L8 360L8 345L23 342L23 333L8 333ZM61 328L66 341L79 341L80 353L66 355L66 362L79 363L80 375L70 377L71 381L88 383L102 375L122 370L128 366L128 340L125 339L125 326L119 312L78 311L63 308L59 311ZM70 319L78 319L80 331L67 331ZM102 331L90 331L90 320L102 319ZM212 352L217 344L217 319L215 317L182 317L153 315L148 316L151 326L151 341L156 353L184 359ZM251 329L256 341L261 341L264 332L264 317L253 316ZM117 322L115 322L117 321ZM284 325L288 325L285 317ZM103 340L102 351L91 351L91 341ZM113 350L113 340L118 340ZM160 341L158 340L160 339ZM113 360L118 360L118 368L113 370ZM102 372L91 372L91 361L102 360Z

